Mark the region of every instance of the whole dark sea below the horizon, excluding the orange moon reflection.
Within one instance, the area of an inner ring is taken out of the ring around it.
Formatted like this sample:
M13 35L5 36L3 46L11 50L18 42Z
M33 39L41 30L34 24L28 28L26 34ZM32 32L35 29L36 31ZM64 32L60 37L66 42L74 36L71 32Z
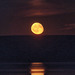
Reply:
M32 62L45 75L75 75L75 36L0 36L0 75L30 75Z

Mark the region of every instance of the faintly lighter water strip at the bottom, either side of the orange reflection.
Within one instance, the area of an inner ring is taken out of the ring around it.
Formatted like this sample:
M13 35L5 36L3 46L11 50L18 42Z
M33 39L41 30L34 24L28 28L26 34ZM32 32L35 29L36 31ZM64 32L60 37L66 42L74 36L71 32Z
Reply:
M75 75L75 62L47 62L43 64L45 75ZM0 75L31 75L30 66L31 63L0 63Z

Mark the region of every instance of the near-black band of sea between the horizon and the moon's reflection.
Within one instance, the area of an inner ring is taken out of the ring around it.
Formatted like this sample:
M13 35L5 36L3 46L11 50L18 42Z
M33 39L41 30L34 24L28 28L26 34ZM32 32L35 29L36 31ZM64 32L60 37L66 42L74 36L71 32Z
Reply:
M75 62L75 36L0 36L0 62Z

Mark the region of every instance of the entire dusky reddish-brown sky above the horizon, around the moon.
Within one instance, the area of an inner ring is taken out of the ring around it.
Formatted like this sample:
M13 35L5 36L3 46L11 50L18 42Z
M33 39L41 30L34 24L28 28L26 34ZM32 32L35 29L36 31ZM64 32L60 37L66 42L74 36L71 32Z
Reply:
M75 0L0 0L0 35L33 35L34 22L44 35L74 35Z

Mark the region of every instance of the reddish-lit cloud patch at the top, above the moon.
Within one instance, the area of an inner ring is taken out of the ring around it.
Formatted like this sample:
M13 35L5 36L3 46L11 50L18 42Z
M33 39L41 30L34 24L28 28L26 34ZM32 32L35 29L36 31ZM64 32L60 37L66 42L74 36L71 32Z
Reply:
M18 16L42 16L64 13L64 10L60 5L48 3L45 0L29 0L24 7L17 13Z

